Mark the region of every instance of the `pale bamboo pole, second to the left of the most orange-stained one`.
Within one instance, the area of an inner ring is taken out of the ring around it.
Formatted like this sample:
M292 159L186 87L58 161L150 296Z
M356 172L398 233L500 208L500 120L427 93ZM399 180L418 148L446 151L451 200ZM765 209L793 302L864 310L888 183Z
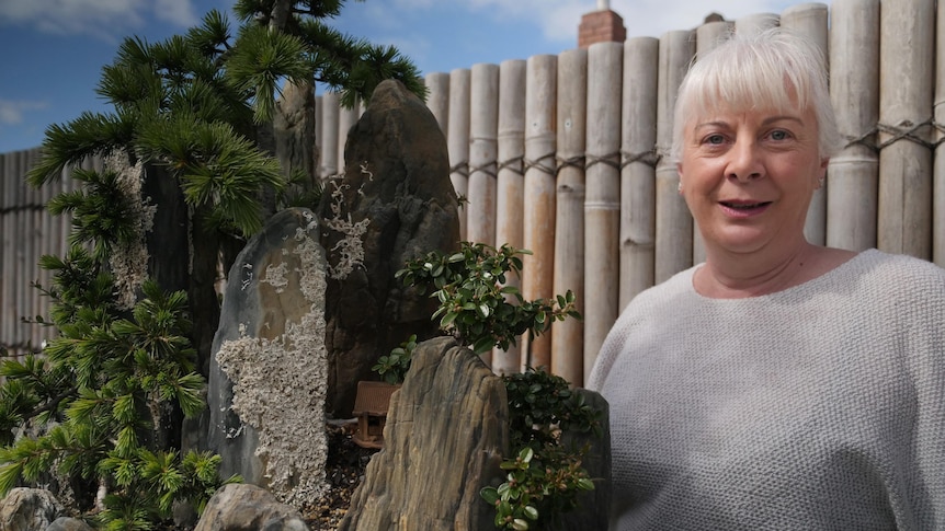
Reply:
M496 244L496 173L499 131L499 66L472 66L469 100L469 188L466 239ZM476 109L476 112L471 112Z

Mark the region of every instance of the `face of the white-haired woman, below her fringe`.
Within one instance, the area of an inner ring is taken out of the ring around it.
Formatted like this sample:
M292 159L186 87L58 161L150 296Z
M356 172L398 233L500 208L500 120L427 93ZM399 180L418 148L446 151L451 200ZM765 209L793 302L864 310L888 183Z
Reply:
M813 111L717 111L686 123L682 195L706 251L784 251L804 241L827 170Z

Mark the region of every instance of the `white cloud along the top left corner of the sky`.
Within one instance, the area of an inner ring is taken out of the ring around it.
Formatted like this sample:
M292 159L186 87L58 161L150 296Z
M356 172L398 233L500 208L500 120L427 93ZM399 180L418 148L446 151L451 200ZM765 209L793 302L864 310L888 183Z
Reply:
M113 41L149 22L179 27L197 23L193 0L29 0L0 2L0 23L29 25L53 35Z

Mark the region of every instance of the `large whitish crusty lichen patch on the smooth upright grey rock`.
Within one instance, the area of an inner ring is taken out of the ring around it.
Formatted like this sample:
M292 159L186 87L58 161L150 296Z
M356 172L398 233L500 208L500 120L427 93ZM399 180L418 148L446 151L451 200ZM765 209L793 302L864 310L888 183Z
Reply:
M282 501L307 507L326 492L325 400L328 388L328 355L325 347L326 277L318 267L318 242L311 236L316 222L299 230L289 266L272 267L266 281L277 290L298 275L300 295L311 303L299 322L287 322L274 338L250 337L244 326L240 337L224 342L216 359L234 382L232 411L259 436L257 455L265 464L269 488ZM284 254L286 251L283 252ZM283 282L284 281L284 282Z

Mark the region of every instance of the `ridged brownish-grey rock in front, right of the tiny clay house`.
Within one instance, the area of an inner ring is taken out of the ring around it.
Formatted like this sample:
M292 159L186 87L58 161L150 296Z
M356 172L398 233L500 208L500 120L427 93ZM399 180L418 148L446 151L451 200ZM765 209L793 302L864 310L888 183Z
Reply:
M479 489L504 475L505 385L448 337L421 343L413 356L391 397L384 449L372 457L338 529L494 529L494 512Z

